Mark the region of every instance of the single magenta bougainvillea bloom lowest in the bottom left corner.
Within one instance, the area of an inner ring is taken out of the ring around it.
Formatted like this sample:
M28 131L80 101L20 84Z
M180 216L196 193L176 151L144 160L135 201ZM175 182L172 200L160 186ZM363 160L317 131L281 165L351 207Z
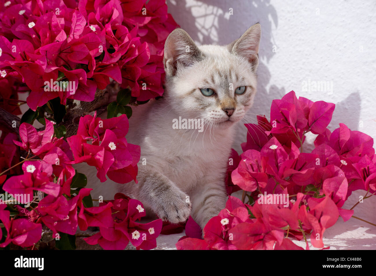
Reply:
M42 236L42 225L33 223L27 219L12 219L10 237L12 243L21 247L29 247L36 244Z

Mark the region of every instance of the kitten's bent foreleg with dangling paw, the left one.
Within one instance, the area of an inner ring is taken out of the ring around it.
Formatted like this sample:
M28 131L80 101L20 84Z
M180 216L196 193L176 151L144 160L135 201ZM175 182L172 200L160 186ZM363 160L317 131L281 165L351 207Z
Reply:
M186 193L165 175L155 171L139 171L138 184L132 184L132 198L143 202L162 220L184 222L191 213Z

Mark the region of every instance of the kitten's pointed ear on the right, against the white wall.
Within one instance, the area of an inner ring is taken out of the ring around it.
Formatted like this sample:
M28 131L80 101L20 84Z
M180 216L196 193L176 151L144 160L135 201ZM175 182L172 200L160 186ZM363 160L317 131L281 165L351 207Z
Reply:
M230 52L245 57L252 65L252 70L256 71L260 38L261 25L257 23L246 30L239 39L227 45L227 48Z

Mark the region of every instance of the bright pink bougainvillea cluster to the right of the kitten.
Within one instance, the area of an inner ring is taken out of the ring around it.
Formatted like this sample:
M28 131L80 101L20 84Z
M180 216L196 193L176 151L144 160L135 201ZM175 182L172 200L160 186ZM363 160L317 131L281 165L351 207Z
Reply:
M312 246L324 247L324 231L338 216L352 217L352 208L341 208L351 193L365 190L364 199L376 193L373 139L344 124L331 132L333 111L334 104L298 99L294 91L273 100L270 122L258 116L258 125L246 124L243 153L232 151L227 192L242 189L243 201L229 196L203 239L190 218L177 249L302 250L291 239L304 238L309 249L308 237ZM318 134L310 153L303 151L308 132Z

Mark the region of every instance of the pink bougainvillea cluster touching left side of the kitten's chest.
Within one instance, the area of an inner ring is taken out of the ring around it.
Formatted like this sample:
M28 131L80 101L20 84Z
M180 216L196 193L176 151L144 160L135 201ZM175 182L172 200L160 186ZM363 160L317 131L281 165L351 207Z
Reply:
M73 163L86 162L98 170L98 178L104 182L106 175L115 182L136 181L140 148L128 144L124 136L129 127L126 115L100 119L86 115L80 118L77 135L68 137L74 155ZM92 140L91 144L86 140Z

